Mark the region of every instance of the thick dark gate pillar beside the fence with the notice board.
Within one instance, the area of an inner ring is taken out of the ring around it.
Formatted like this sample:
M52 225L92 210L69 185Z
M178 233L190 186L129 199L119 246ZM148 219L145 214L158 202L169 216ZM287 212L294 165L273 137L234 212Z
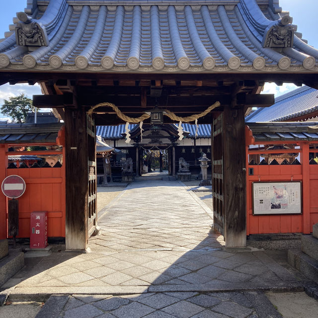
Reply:
M227 247L246 246L246 159L243 108L223 112L224 236Z

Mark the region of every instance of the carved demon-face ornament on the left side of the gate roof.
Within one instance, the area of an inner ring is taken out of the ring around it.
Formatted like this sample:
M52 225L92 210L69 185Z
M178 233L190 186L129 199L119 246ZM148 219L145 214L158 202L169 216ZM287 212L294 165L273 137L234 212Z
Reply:
M20 21L15 27L17 45L28 47L48 46L46 29L41 22L36 22L24 12L17 12L16 16Z

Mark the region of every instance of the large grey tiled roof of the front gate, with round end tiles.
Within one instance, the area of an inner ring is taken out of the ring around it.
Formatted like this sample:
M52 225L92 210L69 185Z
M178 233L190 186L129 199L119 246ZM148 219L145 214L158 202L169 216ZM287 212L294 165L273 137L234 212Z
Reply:
M318 50L278 0L27 3L0 42L2 71L318 71Z

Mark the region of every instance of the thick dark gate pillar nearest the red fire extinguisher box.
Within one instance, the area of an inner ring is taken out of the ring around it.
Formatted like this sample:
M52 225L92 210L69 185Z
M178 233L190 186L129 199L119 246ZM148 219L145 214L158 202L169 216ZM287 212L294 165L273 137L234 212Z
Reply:
M87 241L88 149L86 114L65 108L66 249L85 249Z

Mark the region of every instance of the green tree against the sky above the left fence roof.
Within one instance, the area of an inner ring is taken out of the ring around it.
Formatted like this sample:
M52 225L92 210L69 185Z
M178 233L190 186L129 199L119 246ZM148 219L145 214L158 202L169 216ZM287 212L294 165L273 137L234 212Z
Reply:
M32 99L23 93L15 97L9 97L8 100L4 99L0 111L3 115L10 117L12 122L24 123L27 114L32 111Z

